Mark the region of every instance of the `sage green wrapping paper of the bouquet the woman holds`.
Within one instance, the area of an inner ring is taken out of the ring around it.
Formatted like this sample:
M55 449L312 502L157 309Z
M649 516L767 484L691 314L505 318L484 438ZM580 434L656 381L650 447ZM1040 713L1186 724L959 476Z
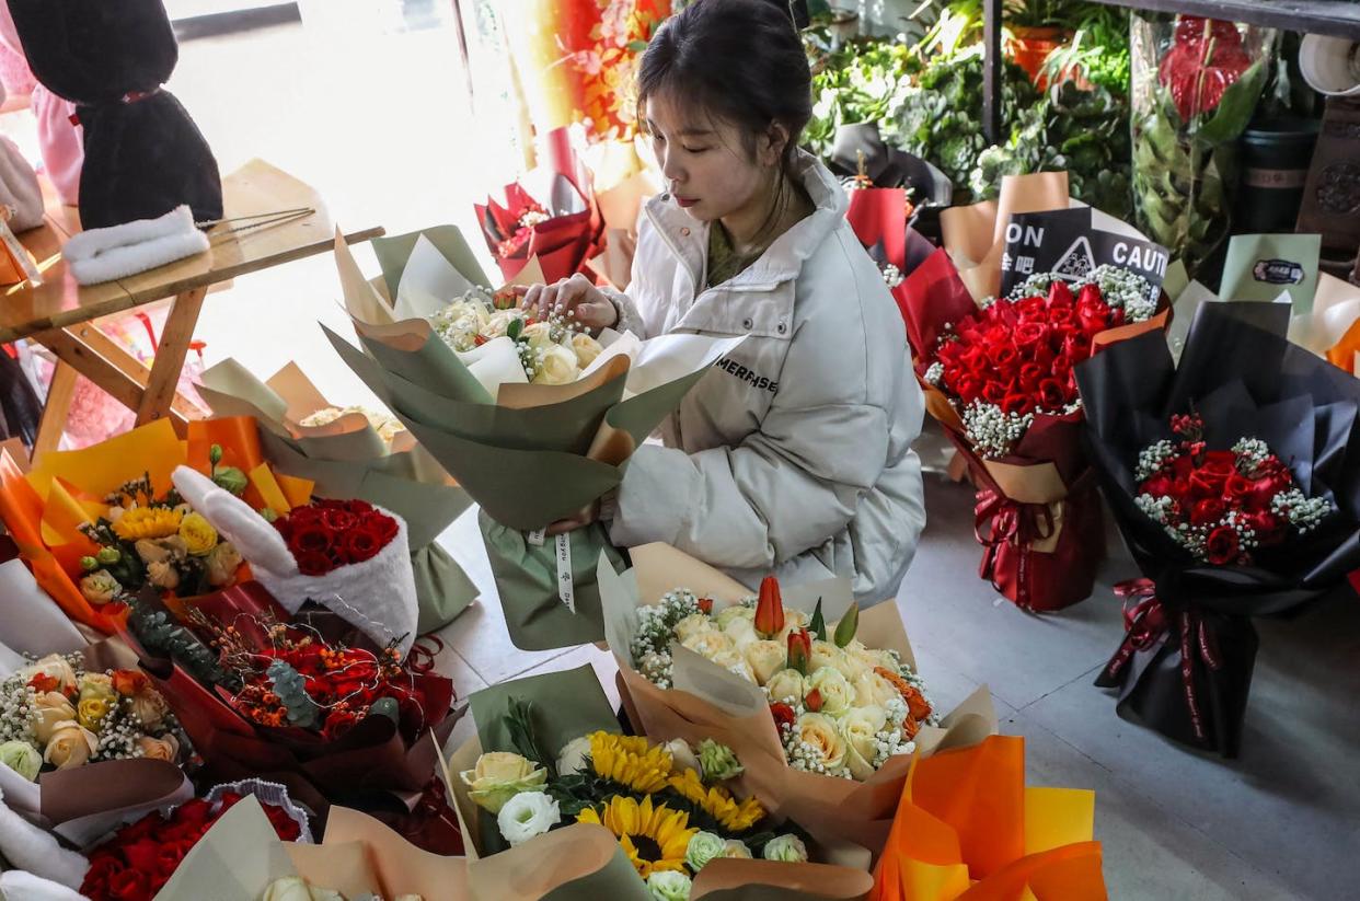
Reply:
M413 260L422 235L443 255L442 276L428 275L424 245L422 260ZM427 308L431 292L486 285L480 270L465 268L465 249L456 230L445 228L384 242L378 255L385 284L375 288L358 276L348 247L337 243L359 347L322 329L345 364L481 506L481 534L515 647L600 641L596 564L601 554L623 560L605 529L593 526L541 544L530 535L616 489L634 450L741 338L662 336L641 347L620 340L619 348L631 353L611 356L607 348L571 385L500 385L492 400L426 319L397 321L403 299L418 298L411 303ZM413 287L418 269L438 285ZM389 298L398 300L393 304ZM442 295L445 302L453 299Z

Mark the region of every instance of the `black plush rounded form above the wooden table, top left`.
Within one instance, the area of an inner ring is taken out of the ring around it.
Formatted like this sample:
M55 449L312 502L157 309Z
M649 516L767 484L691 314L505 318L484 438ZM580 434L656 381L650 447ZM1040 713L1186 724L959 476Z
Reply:
M180 46L162 0L8 0L29 67L84 126L80 222L152 219L180 204L222 217L218 160L160 86Z

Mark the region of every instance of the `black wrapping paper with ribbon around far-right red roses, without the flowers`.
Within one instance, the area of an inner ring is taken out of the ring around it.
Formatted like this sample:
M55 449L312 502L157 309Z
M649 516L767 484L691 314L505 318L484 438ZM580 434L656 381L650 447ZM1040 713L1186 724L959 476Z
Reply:
M1360 379L1289 344L1288 313L1204 304L1179 367L1157 333L1077 367L1091 455L1148 580L1130 601L1160 602L1146 618L1126 617L1130 635L1096 685L1119 689L1125 719L1224 757L1240 749L1258 644L1251 618L1350 593L1348 575L1360 568ZM1170 417L1191 409L1209 450L1259 438L1304 493L1330 497L1337 511L1307 535L1257 550L1251 565L1194 560L1134 504L1138 453L1170 439Z

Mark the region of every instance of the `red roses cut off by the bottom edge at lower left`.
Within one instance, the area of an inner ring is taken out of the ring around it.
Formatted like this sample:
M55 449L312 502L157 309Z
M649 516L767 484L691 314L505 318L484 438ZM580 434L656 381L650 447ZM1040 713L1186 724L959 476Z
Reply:
M242 798L239 791L214 791L211 798L194 798L169 814L152 811L124 826L87 855L90 870L80 894L90 901L151 901L212 824ZM261 806L279 838L302 836L305 815L287 799L282 805L261 799Z

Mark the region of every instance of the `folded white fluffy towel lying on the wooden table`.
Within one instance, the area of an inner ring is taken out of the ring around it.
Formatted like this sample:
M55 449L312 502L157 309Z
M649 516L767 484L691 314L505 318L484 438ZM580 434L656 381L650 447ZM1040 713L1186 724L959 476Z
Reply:
M126 279L207 249L208 236L194 227L193 212L181 205L159 219L82 231L71 236L61 253L78 283L99 284Z

